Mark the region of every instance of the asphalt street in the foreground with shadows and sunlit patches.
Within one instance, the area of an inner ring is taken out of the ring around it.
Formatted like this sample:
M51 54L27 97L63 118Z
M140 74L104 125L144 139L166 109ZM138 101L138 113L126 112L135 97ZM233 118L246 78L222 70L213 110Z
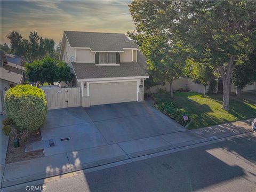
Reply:
M42 191L256 191L256 133L46 182ZM27 188L29 189L29 188ZM28 191L25 187L16 191Z

